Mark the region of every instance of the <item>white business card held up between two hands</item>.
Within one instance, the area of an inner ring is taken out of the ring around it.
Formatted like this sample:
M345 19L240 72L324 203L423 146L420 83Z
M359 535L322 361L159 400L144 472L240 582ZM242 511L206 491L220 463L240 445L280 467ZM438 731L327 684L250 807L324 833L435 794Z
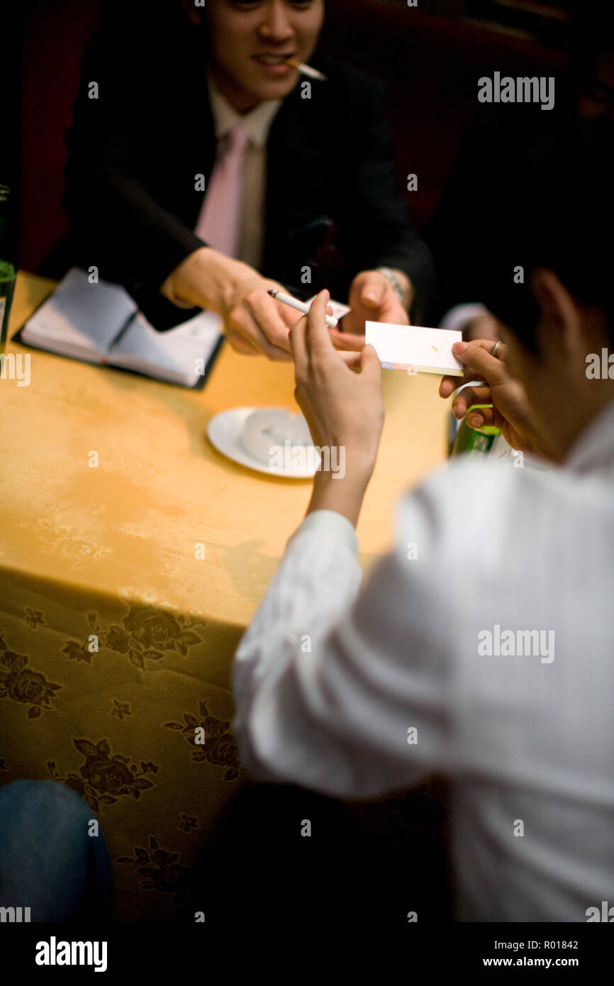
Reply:
M375 348L384 370L435 373L447 377L463 375L462 364L452 354L454 342L462 341L462 332L423 325L391 325L383 321L365 322L365 331L365 341Z

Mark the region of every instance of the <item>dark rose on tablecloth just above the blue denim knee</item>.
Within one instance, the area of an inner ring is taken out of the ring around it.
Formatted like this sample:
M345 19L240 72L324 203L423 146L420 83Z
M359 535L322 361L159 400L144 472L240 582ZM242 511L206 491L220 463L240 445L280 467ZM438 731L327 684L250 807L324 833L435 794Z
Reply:
M95 810L101 805L114 805L119 798L128 797L138 801L142 791L153 788L153 784L145 774L157 774L160 767L141 760L141 769L131 762L131 757L121 753L110 755L110 746L106 740L93 743L91 740L73 740L75 749L83 757L85 763L79 773L70 773L60 777L53 760L47 761L47 770L54 781L59 781L72 788Z

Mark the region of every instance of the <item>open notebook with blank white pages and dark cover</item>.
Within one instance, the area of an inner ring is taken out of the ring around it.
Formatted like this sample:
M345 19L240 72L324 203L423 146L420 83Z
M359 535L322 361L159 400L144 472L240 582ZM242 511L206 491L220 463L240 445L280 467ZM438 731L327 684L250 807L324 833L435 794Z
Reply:
M26 322L20 340L61 356L197 387L218 352L221 328L218 315L200 312L157 332L123 288L91 284L84 270L71 267Z

